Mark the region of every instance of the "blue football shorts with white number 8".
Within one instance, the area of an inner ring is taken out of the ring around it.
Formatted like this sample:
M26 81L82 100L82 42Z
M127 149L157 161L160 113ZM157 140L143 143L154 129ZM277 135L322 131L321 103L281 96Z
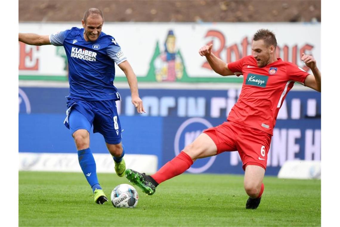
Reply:
M67 98L65 126L71 135L78 129L99 132L108 144L119 144L122 140L116 100L84 101Z

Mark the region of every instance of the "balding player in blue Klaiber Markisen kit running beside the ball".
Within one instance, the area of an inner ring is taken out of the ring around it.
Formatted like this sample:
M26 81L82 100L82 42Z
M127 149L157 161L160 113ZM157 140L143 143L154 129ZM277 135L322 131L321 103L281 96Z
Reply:
M131 90L132 103L138 113L145 112L138 95L137 78L115 38L102 32L104 17L99 9L85 11L83 28L51 35L19 33L19 41L29 45L64 46L69 65L70 94L67 96L67 117L78 150L78 160L94 193L95 202L107 201L96 173L96 162L90 150L90 129L104 136L119 177L125 173L125 150L121 142L121 126L116 101L120 100L115 79L115 64L122 69Z

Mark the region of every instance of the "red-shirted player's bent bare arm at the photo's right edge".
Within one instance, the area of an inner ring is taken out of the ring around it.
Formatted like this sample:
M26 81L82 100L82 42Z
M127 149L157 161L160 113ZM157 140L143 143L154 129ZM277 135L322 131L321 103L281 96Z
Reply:
M314 89L315 91L321 92L321 72L317 67L317 61L311 55L302 53L301 60L310 68L313 75L309 74L305 79L305 86Z

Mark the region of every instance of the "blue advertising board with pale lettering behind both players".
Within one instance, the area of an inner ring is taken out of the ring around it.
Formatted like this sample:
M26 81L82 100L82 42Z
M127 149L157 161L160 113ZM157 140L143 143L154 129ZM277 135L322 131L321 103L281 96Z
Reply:
M217 126L236 103L239 89L140 89L147 111L138 114L129 89L120 89L117 109L129 153L154 154L158 168L170 161L204 129ZM75 152L63 125L68 88L19 88L19 152ZM91 150L107 152L103 137L91 133ZM277 175L287 160L321 160L321 95L290 91L279 111L268 155L268 175ZM242 174L238 152L197 160L191 173Z

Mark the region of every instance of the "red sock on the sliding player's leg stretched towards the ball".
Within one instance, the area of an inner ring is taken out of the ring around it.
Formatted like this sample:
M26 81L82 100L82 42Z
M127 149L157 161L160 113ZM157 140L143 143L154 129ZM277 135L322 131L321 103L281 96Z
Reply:
M160 184L163 181L184 173L192 164L193 161L190 156L182 151L179 155L162 166L162 168L151 177Z

